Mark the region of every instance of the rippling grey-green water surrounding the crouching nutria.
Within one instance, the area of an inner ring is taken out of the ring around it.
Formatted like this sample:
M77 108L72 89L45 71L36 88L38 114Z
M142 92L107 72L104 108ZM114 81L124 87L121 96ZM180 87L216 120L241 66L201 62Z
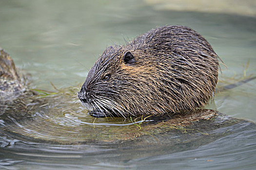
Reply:
M0 46L32 74L31 88L51 90L49 82L57 87L82 83L112 41L123 44L123 37L178 24L204 35L228 66L220 83L233 83L248 59L246 74L255 72L255 17L153 9L137 0L0 1ZM255 120L253 87L217 93L217 110ZM0 105L0 169L256 168L253 122L218 112L210 120L178 125L167 118L95 119L72 97L76 92L27 94L4 111Z

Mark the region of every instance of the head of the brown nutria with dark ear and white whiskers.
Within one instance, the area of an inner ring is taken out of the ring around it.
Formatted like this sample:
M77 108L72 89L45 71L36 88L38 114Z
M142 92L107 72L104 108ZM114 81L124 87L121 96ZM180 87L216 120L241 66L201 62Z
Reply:
M152 101L158 98L153 95L158 90L158 75L154 67L148 67L150 62L141 61L140 52L110 46L98 58L78 94L92 116L127 117L151 112L145 105L154 104Z

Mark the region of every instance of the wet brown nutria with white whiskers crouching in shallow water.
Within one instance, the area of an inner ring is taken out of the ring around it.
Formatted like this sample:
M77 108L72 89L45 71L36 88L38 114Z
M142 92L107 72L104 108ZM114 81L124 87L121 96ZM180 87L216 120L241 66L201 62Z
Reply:
M219 57L196 31L164 26L126 46L110 46L90 69L78 97L94 117L195 110L213 96Z

